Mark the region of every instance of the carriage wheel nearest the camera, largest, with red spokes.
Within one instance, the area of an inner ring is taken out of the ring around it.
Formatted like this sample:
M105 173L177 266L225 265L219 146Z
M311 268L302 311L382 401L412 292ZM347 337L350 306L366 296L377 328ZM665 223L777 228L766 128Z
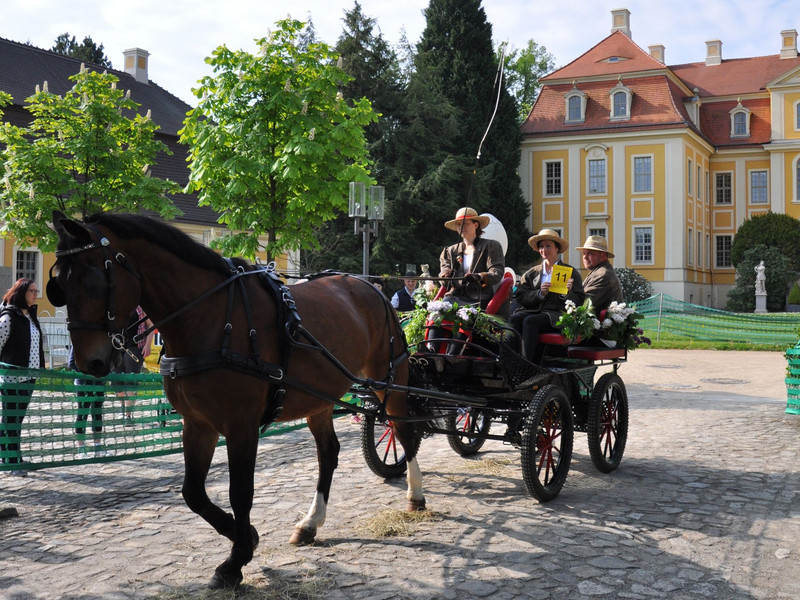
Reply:
M572 460L572 409L564 391L546 385L533 398L522 430L522 478L539 502L552 500Z

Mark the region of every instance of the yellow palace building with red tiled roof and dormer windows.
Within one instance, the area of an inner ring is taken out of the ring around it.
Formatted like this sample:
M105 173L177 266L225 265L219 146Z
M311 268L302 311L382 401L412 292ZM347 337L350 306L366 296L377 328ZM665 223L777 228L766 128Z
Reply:
M611 34L544 77L522 126L520 176L531 229L578 246L608 238L615 267L656 292L724 308L741 223L772 211L800 218L797 31L776 54L665 63L665 48L631 39L630 12ZM780 33L780 35L777 35ZM565 254L580 264L576 250Z

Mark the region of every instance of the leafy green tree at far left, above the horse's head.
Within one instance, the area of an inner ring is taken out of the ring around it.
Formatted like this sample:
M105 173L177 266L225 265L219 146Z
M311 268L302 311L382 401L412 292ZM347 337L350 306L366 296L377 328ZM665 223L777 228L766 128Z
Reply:
M117 89L108 73L81 69L64 96L44 89L26 99L27 127L0 128L2 234L20 243L55 249L48 227L54 209L82 217L97 211L178 214L168 194L179 186L151 177L149 166L169 149L139 105Z

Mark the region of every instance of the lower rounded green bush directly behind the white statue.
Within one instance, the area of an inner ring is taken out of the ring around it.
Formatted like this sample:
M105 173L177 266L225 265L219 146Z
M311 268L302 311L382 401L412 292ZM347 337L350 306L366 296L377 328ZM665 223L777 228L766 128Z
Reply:
M786 307L786 293L797 277L792 261L780 249L756 244L745 250L736 266L736 287L728 292L727 309L736 312L753 312L756 308L756 265L764 261L767 277L767 310L781 312Z

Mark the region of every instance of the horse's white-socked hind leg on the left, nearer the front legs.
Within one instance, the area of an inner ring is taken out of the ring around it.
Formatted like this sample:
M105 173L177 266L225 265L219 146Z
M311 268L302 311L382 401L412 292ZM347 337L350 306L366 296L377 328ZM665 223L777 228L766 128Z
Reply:
M319 476L317 491L308 514L294 527L289 543L299 546L311 544L317 535L317 528L325 522L328 497L333 481L333 472L339 465L339 440L333 429L332 409L322 414L308 417L308 429L317 443L317 462Z

